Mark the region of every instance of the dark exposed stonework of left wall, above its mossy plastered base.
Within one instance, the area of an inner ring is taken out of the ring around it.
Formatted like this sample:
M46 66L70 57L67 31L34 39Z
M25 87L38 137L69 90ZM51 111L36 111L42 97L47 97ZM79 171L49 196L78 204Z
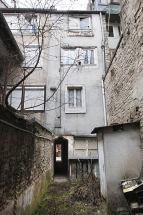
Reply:
M0 106L0 214L16 196L51 171L51 142L48 130Z

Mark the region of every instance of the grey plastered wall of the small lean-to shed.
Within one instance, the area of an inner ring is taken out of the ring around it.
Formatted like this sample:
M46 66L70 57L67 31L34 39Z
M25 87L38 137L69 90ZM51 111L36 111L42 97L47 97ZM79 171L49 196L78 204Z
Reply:
M107 201L111 215L118 207L126 205L121 187L121 180L140 176L142 150L139 124L125 124L123 131L113 131L112 127L103 129L103 153L105 159L105 179ZM102 151L99 148L99 161ZM101 166L100 166L101 167ZM102 174L102 176L104 176ZM102 181L104 182L102 179Z

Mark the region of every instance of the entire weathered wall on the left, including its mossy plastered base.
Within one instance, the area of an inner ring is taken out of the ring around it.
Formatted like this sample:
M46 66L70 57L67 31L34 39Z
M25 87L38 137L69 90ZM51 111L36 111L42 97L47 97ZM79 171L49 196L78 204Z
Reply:
M50 181L51 133L0 106L0 136L0 215L30 215Z

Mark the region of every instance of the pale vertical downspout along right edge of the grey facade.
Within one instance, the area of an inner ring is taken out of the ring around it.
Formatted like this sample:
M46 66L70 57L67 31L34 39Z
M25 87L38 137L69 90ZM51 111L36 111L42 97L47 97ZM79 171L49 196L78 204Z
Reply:
M104 90L104 76L105 76L105 73L106 73L106 66L105 66L105 40L104 40L103 21L102 21L101 12L100 12L100 23L101 23L101 32L102 32L101 50L102 50L102 65L103 65L102 96L103 96L104 120L105 120L105 126L106 126L107 125L107 117L106 117L105 90Z

